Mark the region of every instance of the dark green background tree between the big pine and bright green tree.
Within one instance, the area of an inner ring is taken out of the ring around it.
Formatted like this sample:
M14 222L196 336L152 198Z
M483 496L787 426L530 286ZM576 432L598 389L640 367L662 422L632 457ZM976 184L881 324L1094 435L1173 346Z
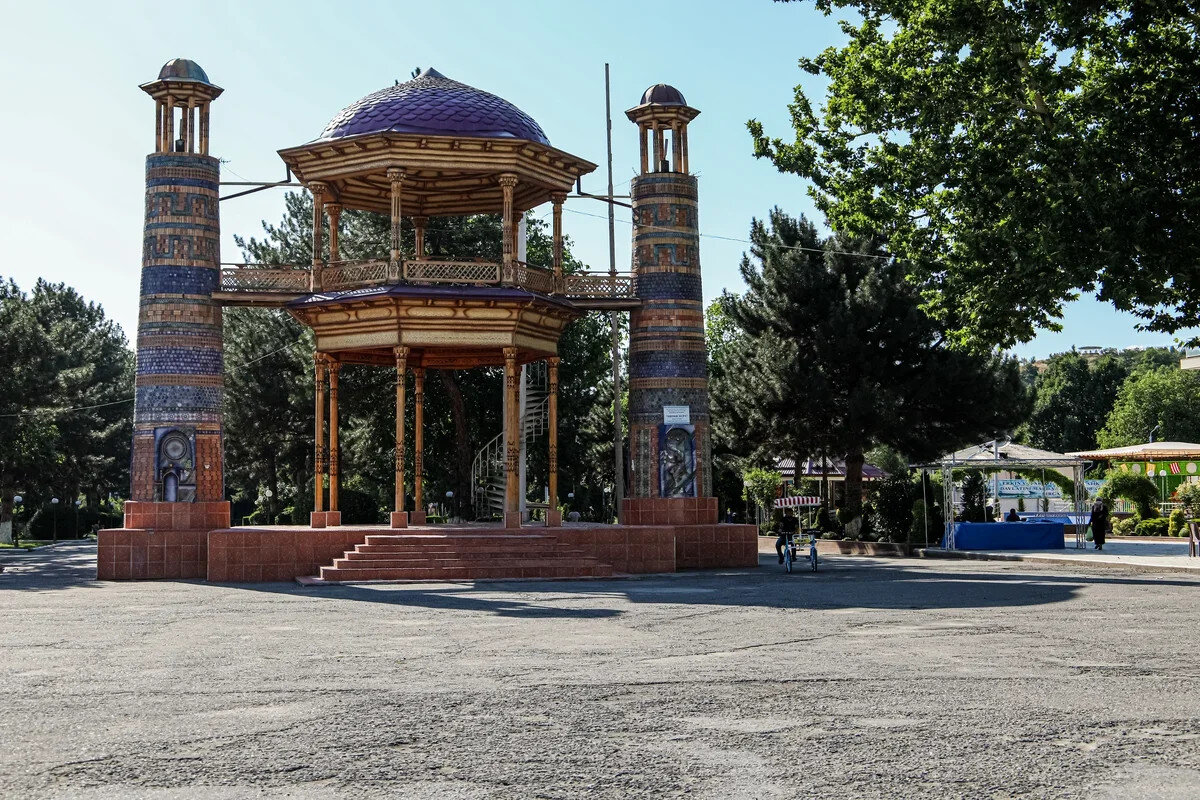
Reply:
M1105 355L1088 361L1074 350L1050 356L1033 385L1033 411L1020 435L1054 452L1096 446L1096 437L1129 375L1126 363Z

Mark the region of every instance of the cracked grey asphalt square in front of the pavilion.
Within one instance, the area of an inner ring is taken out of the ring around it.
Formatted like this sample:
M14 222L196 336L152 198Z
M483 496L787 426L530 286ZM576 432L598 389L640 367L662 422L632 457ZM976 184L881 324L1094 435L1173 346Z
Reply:
M1200 581L828 559L97 583L0 557L2 798L1195 798Z

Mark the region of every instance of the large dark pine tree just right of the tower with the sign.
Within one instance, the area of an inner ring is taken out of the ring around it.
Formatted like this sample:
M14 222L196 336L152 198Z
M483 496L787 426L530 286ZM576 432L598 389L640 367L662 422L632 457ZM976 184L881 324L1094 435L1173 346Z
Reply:
M898 263L870 242L822 241L775 209L755 219L746 291L721 303L742 333L714 397L761 457L840 456L846 503L862 501L864 453L928 458L1015 428L1027 413L1016 362L948 347Z

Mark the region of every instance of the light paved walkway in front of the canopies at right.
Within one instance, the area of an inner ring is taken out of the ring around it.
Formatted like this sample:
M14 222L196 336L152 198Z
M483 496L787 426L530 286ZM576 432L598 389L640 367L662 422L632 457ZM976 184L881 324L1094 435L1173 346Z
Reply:
M1087 549L1075 549L1075 537L1067 539L1064 551L947 551L926 548L919 554L925 558L956 558L979 561L1033 561L1044 564L1069 564L1087 567L1122 567L1141 572L1184 572L1200 575L1200 558L1188 558L1188 542L1139 541L1136 539L1109 540L1104 549L1097 552L1088 543Z

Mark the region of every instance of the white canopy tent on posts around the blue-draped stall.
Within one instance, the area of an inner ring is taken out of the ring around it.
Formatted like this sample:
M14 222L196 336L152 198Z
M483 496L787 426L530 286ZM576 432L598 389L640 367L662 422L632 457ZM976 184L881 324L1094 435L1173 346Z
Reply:
M1073 455L1039 450L1012 441L985 441L946 453L936 462L913 464L923 474L935 469L942 473L942 509L946 517L946 542L950 549L954 549L954 506L958 503L956 489L954 488L954 470L956 469L978 469L988 473L1028 469L1070 469L1072 482L1075 487L1074 497L1072 498L1074 505L1073 519L1076 523L1075 547L1082 548L1085 546L1084 525L1078 523L1087 513L1087 487L1084 485L1085 465L1086 462L1082 458Z

